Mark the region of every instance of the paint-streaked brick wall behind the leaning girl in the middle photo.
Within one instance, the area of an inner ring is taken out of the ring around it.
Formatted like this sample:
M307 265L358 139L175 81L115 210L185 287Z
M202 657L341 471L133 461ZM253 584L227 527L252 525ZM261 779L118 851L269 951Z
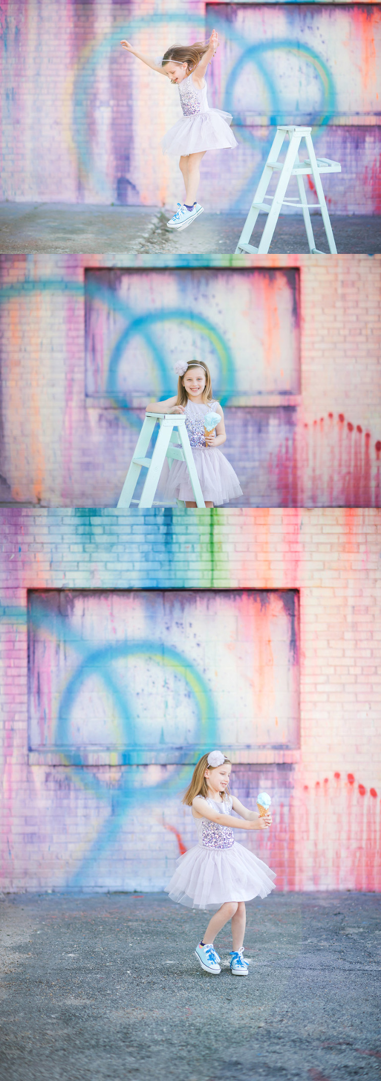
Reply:
M97 348L89 346L89 322L86 360L84 279L86 268L94 283L94 271L112 265L119 267L118 280L123 266L130 267L130 278L132 271L138 278L141 303L137 311L138 289L134 317L139 315L141 324L132 341L134 351L123 353L121 384L112 383L108 390L112 348L132 317L123 309L117 325L114 306L122 293L110 276L100 273L104 292L94 302ZM178 318L172 310L171 320L157 325L152 312L161 294L157 296L154 282L161 267L166 281L174 276ZM380 506L381 257L187 256L177 262L160 256L154 268L148 256L124 263L107 256L2 257L1 501L117 505L144 415L142 409L119 403L119 390L123 397L128 389L128 362L133 358L138 365L141 355L141 366L150 365L141 406L165 396L172 389L173 350L185 339L186 311L193 320L189 348L193 342L201 358L210 353L213 360L218 350L214 345L210 352L210 341L218 339L223 353L218 377L228 400L224 452L241 480L242 505ZM224 271L227 286L232 275L244 275L247 292L244 310L242 290L227 288L228 319L218 308ZM278 293L276 272L284 283ZM203 296L207 326L200 322L200 281L212 298L205 308ZM258 299L267 315L253 325ZM101 349L99 343L105 343ZM255 379L250 376L246 386L245 372L253 365Z

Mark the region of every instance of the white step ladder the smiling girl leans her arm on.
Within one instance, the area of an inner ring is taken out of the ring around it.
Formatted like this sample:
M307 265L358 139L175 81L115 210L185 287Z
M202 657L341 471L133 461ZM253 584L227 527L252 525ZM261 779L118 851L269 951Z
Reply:
M159 421L160 425L158 439L152 457L147 458L146 454L157 421ZM176 431L175 428L177 429ZM176 441L179 441L181 446L174 446ZM165 458L168 459L169 469L174 458L177 458L179 462L186 462L196 506L205 507L186 428L186 418L182 413L146 413L133 461L120 494L118 507L130 507L142 466L148 469L148 473L138 505L139 507L152 506ZM137 501L134 499L133 502ZM178 499L177 503L182 505L183 501Z

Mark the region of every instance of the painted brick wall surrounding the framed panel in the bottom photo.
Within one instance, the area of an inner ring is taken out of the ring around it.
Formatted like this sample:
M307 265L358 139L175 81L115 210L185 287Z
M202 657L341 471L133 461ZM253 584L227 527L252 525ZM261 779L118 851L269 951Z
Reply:
M300 748L234 751L233 790L274 802L271 833L245 843L281 889L380 889L380 512L3 508L0 521L3 889L162 889L194 843L186 768L123 765L118 747L86 765L28 752L27 590L64 590L65 604L76 589L222 589L229 604L251 588L300 593Z

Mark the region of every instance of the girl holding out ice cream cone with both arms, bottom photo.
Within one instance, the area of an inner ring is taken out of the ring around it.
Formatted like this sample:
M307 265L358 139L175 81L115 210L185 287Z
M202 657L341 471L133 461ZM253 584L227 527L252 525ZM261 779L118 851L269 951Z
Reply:
M233 976L247 976L248 962L243 958L246 924L245 900L266 897L273 886L273 871L234 841L234 829L268 829L271 814L263 818L248 811L229 791L230 759L219 750L203 755L198 762L182 803L192 808L199 833L199 844L177 860L177 870L165 888L173 900L189 908L217 908L201 943L196 946L204 972L221 971L214 940L231 920L233 949L230 971ZM231 812L244 818L237 822Z

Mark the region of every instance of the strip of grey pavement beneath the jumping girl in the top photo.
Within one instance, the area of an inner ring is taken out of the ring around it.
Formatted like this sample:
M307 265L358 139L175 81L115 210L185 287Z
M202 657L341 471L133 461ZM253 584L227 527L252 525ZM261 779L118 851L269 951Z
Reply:
M248 209L248 208L247 208ZM169 211L153 206L99 206L69 203L0 203L1 253L228 254L235 252L246 214L206 211L187 229L166 228ZM264 217L251 238L258 244ZM381 217L331 215L339 254L381 252ZM328 252L319 214L313 216L315 242ZM301 215L278 219L271 254L308 254Z

